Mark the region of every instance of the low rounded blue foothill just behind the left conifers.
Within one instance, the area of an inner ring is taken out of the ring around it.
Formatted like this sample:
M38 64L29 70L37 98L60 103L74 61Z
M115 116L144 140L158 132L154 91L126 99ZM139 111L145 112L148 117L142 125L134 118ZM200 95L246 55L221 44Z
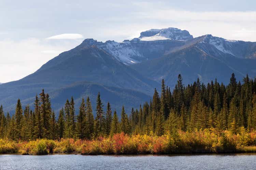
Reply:
M58 111L65 105L67 99L70 100L71 96L74 98L76 112L79 111L82 98L86 100L87 96L90 97L91 104L95 110L96 98L99 91L104 106L110 102L111 107L116 109L118 112L121 111L122 105L126 106L125 108L128 113L132 107L139 107L141 101L148 101L151 98L151 96L140 91L104 86L90 82L76 82L65 87L58 88L50 91L49 96L51 97L52 108L58 114ZM30 106L33 106L33 102L34 97L22 100L22 103L28 103ZM14 103L9 106L8 109L13 110L15 109L15 106L16 104Z

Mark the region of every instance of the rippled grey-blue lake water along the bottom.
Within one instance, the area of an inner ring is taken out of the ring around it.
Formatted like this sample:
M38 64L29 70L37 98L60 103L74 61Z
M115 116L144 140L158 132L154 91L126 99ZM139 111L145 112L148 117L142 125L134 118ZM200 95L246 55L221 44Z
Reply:
M0 155L0 169L256 169L256 154Z

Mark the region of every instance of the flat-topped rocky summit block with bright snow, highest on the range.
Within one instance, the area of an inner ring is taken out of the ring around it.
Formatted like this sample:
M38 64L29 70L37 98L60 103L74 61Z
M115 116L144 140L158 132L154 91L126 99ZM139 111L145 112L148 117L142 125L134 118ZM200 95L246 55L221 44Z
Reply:
M187 41L193 39L193 36L186 30L180 30L177 28L165 28L165 29L151 29L141 33L139 37L142 41L155 41L155 40L180 40Z

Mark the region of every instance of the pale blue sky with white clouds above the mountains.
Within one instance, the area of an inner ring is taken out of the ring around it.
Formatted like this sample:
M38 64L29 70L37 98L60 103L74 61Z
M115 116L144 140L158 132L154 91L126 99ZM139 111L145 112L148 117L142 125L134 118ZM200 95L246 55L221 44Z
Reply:
M19 80L59 53L81 44L139 37L175 27L256 41L255 0L0 0L0 82Z

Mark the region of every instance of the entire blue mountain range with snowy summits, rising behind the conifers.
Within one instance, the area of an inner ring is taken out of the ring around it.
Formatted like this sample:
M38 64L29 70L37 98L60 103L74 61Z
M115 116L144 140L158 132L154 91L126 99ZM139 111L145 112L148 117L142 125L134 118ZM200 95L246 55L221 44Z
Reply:
M56 110L71 95L77 104L87 95L94 103L98 91L105 103L111 101L113 109L123 104L137 107L150 99L155 87L159 89L162 79L172 88L180 73L184 84L197 78L204 83L217 78L227 84L232 72L237 80L247 73L254 77L255 59L255 42L210 34L194 38L177 28L147 30L123 42L85 39L27 77L1 84L0 104L13 113L18 98L23 106L31 105L44 88L52 95Z

